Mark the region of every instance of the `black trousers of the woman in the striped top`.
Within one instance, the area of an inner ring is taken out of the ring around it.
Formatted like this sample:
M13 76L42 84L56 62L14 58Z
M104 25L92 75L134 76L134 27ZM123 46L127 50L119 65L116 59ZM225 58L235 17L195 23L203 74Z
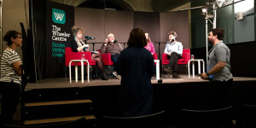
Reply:
M0 84L0 93L2 94L1 127L1 125L13 123L13 117L20 100L20 84L12 82L0 82Z

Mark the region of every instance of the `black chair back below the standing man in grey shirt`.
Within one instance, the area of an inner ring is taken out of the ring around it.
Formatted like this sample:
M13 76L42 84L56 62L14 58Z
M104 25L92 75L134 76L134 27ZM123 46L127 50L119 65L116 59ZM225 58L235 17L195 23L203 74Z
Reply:
M180 109L177 112L175 126L177 128L232 128L230 118L232 106L213 110Z

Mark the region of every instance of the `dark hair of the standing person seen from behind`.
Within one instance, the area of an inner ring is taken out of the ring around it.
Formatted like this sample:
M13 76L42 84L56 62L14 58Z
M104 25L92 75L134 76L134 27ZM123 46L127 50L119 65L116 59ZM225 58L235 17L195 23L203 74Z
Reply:
M130 37L127 42L128 46L145 47L147 45L147 38L141 28L133 28L130 32Z

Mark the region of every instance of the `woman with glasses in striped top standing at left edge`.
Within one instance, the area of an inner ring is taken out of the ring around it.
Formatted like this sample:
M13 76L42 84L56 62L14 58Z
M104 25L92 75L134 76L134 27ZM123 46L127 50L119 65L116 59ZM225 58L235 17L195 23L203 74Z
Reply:
M8 47L1 57L0 93L2 94L2 109L0 127L11 125L18 102L20 100L21 67L20 55L15 51L22 45L20 32L11 30L6 32L3 40Z

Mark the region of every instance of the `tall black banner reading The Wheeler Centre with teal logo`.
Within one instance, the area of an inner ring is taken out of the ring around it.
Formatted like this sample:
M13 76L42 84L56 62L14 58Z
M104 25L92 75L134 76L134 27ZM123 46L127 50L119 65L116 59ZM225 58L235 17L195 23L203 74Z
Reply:
M46 8L46 78L61 78L66 72L65 47L73 38L74 8L53 2Z

